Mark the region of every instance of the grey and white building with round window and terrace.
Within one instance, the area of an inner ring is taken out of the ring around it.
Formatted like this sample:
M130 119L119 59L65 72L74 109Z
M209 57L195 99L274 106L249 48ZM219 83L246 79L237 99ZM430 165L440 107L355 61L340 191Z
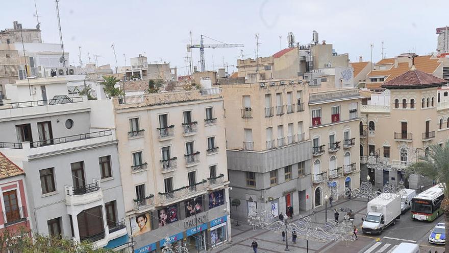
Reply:
M118 140L102 128L113 125L113 114L97 104L104 101L68 97L64 77L17 80L6 89L0 152L27 175L33 232L126 247Z

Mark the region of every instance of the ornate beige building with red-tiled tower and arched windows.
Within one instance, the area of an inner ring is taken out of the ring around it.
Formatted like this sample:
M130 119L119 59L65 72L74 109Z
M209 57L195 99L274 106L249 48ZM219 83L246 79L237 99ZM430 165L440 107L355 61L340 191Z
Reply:
M381 87L385 89L382 94L371 95L368 104L361 105L361 179L369 175L376 188L400 183L411 189L432 185L432 180L407 175L405 169L429 145L448 138L447 81L412 66Z

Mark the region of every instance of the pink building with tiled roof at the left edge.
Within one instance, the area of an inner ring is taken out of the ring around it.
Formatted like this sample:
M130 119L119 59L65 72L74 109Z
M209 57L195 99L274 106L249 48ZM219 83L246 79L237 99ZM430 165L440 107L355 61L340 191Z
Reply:
M8 229L16 236L22 228L31 229L25 173L1 152L0 193L0 232Z

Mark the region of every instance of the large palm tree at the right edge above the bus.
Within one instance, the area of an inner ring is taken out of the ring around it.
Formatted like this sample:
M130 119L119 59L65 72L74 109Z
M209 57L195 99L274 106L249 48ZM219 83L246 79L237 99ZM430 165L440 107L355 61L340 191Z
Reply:
M441 146L431 145L430 150L418 159L418 162L407 168L408 174L425 175L441 183L440 185L444 191L441 210L444 213L446 235L449 235L449 188L447 188L449 186L449 141L446 141ZM449 243L446 243L445 251L449 252Z

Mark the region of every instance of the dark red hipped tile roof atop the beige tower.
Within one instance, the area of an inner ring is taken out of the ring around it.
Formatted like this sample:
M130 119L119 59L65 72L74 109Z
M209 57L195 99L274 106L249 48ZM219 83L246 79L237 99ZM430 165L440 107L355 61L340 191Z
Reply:
M410 70L391 79L381 85L382 88L389 87L413 87L446 84L447 81L419 70Z

